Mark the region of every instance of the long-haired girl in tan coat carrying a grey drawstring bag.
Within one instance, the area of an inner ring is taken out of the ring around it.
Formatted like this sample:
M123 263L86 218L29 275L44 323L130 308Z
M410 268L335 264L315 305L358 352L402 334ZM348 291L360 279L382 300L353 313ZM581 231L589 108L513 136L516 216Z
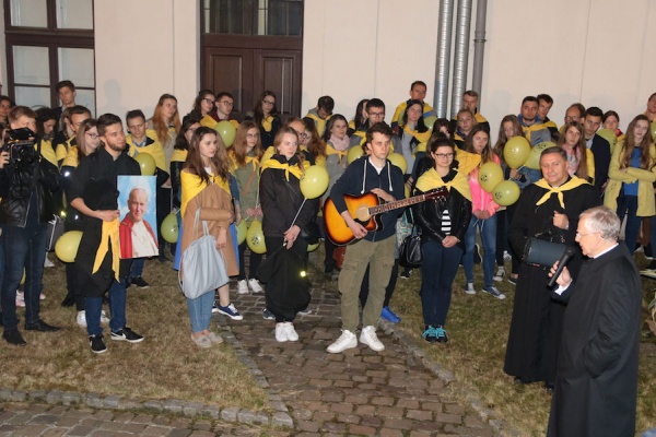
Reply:
M216 238L216 249L223 252L227 274L236 275L237 260L230 233L230 224L235 217L230 190L230 161L223 141L214 130L203 127L196 130L189 142L180 179L183 253L191 241L203 235L202 226L194 228L196 212L200 210L200 220L208 222L209 233ZM219 288L219 312L237 320L243 318L230 303L227 284ZM211 347L223 342L219 334L210 331L213 303L214 291L195 299L187 298L191 340L199 347Z

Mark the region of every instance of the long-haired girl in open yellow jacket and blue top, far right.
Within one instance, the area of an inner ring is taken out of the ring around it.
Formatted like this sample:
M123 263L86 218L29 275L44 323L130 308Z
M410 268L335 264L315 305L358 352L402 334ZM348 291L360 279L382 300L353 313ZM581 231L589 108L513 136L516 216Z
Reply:
M626 216L624 243L631 253L635 250L642 217L656 214L655 166L656 146L649 119L641 114L631 120L626 137L614 147L604 196L604 205L617 211L620 221Z

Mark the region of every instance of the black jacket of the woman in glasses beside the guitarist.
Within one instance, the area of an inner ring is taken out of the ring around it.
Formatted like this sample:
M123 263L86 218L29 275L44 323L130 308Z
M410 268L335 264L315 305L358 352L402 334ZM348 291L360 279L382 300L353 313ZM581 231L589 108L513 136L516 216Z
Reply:
M414 196L423 193L417 188L414 191ZM446 237L442 232L442 213L445 209L450 216L450 235L458 238L458 246L465 249L465 234L471 218L471 201L455 188L450 189L446 199L426 200L412 206L414 224L421 229L421 241L442 241Z

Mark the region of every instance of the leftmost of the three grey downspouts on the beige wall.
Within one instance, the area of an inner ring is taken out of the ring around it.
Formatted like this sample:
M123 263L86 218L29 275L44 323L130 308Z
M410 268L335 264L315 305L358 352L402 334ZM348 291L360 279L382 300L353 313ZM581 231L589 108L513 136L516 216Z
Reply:
M450 67L452 23L455 0L440 2L440 23L437 25L437 59L435 62L435 94L433 105L438 118L446 117L448 102L448 73Z

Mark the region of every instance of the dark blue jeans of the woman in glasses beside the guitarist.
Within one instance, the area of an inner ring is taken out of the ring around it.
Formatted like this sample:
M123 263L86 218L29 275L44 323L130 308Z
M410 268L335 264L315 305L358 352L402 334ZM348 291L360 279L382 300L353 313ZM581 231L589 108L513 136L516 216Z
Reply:
M442 243L426 241L421 246L421 306L424 324L444 326L462 249L459 246L445 248Z

